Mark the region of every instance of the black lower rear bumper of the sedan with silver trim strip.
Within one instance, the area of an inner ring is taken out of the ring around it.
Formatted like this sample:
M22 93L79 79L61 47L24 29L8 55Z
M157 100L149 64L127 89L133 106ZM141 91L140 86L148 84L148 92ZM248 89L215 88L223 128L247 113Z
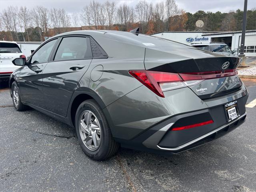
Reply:
M152 126L132 140L119 140L122 147L146 150L160 154L177 154L191 148L212 142L238 128L246 118L245 104L248 95L237 99L240 116L227 122L224 105L180 114ZM214 123L187 130L172 131L172 127L184 122L204 122L212 119Z

